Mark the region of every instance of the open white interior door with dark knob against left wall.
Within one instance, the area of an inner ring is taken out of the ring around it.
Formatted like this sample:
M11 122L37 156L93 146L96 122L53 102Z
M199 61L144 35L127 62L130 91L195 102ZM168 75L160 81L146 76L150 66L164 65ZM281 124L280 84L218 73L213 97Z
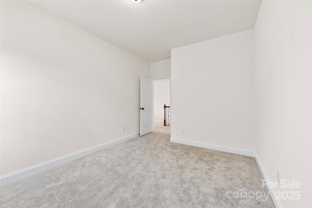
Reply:
M154 132L154 80L141 76L140 135Z

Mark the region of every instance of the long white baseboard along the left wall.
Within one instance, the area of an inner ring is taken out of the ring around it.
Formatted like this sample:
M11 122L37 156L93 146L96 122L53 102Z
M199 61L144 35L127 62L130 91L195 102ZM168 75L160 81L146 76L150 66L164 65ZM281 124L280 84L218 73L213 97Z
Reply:
M118 138L118 139L115 139L115 140L112 140L112 141L109 141L109 142L105 142L103 144L100 144L100 145L97 145L97 146L94 146L94 147L91 147L91 148L88 148L85 150L77 151L77 152L74 152L72 154L68 154L68 155L56 158L54 160L50 160L50 161L47 161L47 162L44 162L44 163L41 163L41 164L38 164L38 165L35 165L32 167L23 169L23 170L18 170L18 171L3 175L0 177L0 185L2 186L5 184L9 184L11 182L14 182L14 181L20 180L22 178L34 175L36 173L39 173L41 171L54 168L56 166L62 165L64 163L67 163L67 162L72 161L72 160L76 160L80 157L91 154L93 152L111 147L111 146L116 145L120 142L124 142L126 140L133 139L137 136L138 136L138 132L124 136L124 137L121 137L121 138Z

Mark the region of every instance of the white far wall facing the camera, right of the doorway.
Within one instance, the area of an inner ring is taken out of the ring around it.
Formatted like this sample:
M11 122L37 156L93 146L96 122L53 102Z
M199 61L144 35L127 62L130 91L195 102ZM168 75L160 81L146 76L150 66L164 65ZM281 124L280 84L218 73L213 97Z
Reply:
M172 137L254 150L253 52L253 30L171 51Z

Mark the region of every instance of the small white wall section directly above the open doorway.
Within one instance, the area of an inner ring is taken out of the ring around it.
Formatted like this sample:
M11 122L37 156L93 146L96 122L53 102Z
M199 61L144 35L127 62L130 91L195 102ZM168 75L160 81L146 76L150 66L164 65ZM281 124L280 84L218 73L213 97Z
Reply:
M151 63L151 78L164 79L171 76L171 60L156 61Z

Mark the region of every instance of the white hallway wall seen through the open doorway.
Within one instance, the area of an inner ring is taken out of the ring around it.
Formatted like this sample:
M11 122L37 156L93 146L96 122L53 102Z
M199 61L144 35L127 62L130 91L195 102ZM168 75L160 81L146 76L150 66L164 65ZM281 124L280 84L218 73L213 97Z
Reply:
M164 104L170 106L170 79L154 81L154 118L164 119Z

